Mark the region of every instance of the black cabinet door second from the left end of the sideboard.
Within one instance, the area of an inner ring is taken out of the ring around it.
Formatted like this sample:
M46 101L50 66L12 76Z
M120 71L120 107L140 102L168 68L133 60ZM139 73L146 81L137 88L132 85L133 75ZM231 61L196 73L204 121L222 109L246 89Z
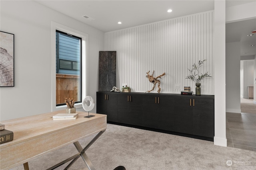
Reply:
M107 121L118 122L118 94L107 95Z

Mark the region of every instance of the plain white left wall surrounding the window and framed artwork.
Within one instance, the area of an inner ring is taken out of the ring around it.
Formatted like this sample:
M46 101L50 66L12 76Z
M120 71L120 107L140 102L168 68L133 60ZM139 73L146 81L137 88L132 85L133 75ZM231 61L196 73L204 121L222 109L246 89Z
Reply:
M0 88L0 120L51 111L51 21L88 34L87 95L96 99L98 52L104 50L104 33L34 1L0 3L0 29L14 34L15 46L14 87Z

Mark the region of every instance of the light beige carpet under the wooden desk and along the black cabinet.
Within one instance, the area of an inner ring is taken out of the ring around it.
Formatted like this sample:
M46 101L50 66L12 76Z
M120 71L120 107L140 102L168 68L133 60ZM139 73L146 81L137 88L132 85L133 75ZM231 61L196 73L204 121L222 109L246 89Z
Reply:
M82 139L84 147L92 139ZM28 162L30 170L43 170L76 154L74 145ZM255 170L256 152L220 147L210 141L108 124L103 135L86 151L97 170ZM228 166L226 162L232 161ZM240 162L238 162L240 161ZM241 162L243 161L243 162ZM247 161L247 162L244 162ZM13 168L22 170L23 166ZM64 166L57 170L64 169ZM86 169L79 158L70 170Z

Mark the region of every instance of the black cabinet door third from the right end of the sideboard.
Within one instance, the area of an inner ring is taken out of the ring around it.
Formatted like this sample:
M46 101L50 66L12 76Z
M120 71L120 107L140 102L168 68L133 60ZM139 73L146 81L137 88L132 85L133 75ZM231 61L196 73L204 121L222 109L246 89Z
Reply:
M158 128L174 131L174 100L173 97L158 98Z

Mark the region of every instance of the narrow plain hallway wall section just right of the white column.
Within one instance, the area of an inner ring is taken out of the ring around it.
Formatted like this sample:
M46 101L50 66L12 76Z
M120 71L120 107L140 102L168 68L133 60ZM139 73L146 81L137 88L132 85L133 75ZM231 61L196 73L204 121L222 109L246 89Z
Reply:
M240 42L226 43L226 111L241 113Z

